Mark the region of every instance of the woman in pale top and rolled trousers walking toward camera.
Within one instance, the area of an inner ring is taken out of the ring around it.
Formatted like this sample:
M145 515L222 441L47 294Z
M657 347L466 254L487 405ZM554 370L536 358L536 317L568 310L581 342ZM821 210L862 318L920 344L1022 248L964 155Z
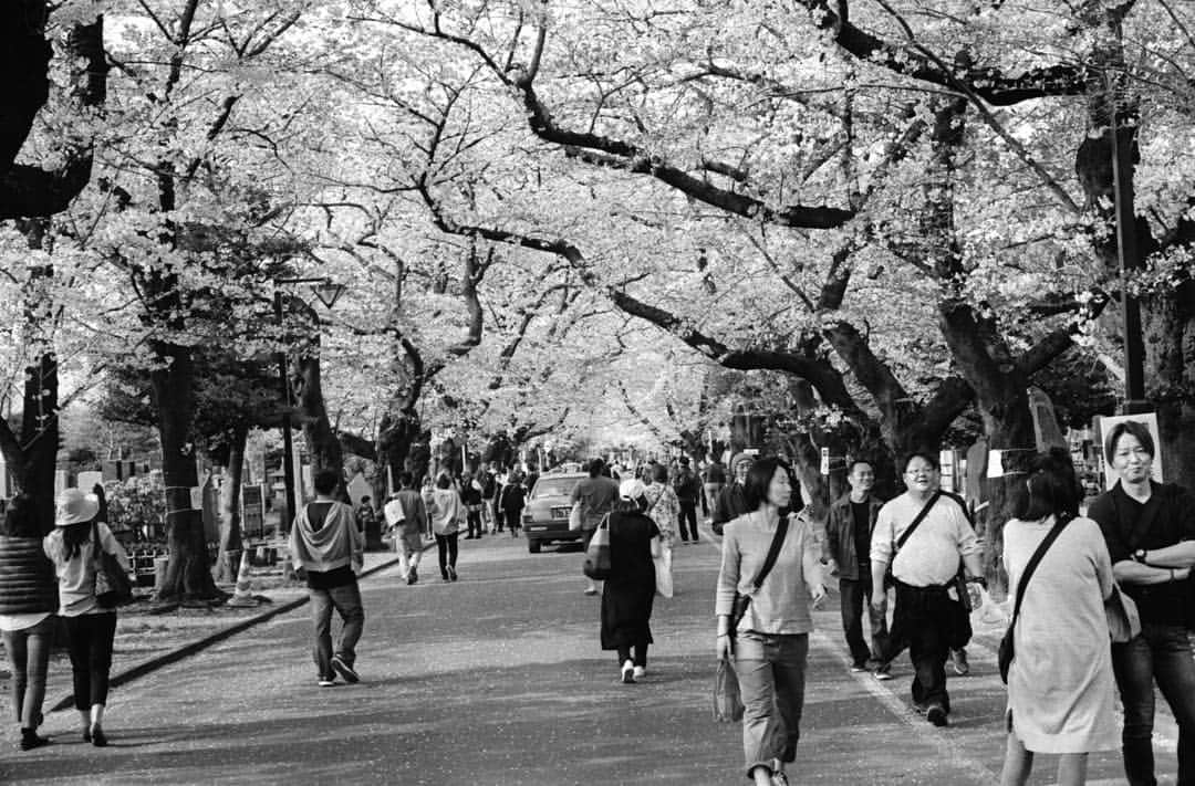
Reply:
M774 456L756 461L743 491L750 512L729 522L722 541L717 655L734 658L739 674L747 778L756 786L788 786L784 766L796 761L801 737L811 609L826 588L809 523L780 515L790 502L801 504L789 465ZM737 625L736 596L749 598Z

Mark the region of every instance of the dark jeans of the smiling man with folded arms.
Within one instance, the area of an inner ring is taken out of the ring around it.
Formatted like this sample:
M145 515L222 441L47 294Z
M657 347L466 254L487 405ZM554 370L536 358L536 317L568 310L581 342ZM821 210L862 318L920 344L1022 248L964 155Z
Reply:
M1141 624L1132 641L1113 645L1113 670L1124 730L1121 736L1129 786L1157 786L1153 775L1153 683L1178 721L1178 786L1195 786L1195 661L1187 628Z

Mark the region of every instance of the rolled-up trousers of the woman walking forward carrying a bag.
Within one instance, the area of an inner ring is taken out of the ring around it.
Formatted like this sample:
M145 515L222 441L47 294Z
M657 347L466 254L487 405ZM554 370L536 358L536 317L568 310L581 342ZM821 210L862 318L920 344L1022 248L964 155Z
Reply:
M748 632L735 643L735 671L746 707L743 757L748 776L756 767L776 772L797 757L808 656L808 633Z

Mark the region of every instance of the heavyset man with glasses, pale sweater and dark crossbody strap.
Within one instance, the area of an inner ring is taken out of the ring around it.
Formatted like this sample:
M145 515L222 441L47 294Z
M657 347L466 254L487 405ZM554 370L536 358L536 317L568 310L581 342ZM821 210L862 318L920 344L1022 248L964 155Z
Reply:
M963 503L939 487L938 458L914 453L905 462L907 491L880 509L871 536L871 582L884 585L891 565L896 608L887 657L908 644L913 677L913 704L934 726L945 726L950 714L946 658L958 625L958 598L952 583L962 558L968 581L982 583L980 545ZM914 529L915 523L915 529ZM897 541L912 530L906 541ZM874 592L871 608L884 610L884 594Z

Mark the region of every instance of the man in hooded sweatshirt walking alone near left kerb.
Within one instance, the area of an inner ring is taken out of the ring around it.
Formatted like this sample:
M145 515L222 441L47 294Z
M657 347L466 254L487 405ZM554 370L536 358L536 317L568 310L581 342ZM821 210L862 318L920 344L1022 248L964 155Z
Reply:
M364 560L364 538L353 508L332 498L341 475L324 469L315 475L315 499L299 510L290 528L290 557L307 573L311 614L315 624L315 668L319 686L331 687L336 675L357 682L356 645L364 626L357 573ZM341 641L332 651L332 608L341 615Z

